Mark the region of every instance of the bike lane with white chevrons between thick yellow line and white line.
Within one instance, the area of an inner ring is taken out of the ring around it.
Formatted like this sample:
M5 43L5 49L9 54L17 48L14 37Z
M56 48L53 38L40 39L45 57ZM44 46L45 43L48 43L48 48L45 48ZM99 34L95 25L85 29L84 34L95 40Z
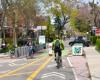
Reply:
M54 61L54 58L52 58L49 63L30 80L75 80L72 67L69 65L66 56L67 53L68 50L63 51L63 66L60 69L57 69L56 62Z

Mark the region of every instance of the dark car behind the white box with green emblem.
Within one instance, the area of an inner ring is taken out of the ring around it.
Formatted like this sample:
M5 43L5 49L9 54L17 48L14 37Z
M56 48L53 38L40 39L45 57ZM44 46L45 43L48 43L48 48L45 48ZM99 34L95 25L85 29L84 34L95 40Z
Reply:
M77 38L75 38L73 41L69 42L70 46L73 46L76 43L82 43L83 46L89 47L90 46L90 41L86 39L86 37L83 36L78 36Z

